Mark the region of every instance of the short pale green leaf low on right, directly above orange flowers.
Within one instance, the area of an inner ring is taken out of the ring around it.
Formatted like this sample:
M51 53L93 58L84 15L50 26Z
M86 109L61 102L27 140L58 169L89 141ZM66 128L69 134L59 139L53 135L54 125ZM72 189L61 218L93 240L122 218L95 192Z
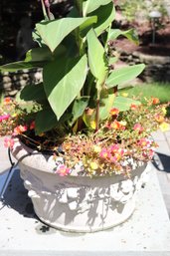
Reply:
M126 97L117 96L113 102L113 107L118 109L120 112L124 112L129 110L132 104L140 105L141 103Z

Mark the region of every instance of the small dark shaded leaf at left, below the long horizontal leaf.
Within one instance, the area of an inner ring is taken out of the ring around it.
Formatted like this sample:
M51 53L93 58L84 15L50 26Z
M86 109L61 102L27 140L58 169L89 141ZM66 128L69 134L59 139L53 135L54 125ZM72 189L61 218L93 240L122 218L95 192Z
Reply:
M43 83L37 85L26 86L20 94L21 100L24 101L43 101L46 100Z

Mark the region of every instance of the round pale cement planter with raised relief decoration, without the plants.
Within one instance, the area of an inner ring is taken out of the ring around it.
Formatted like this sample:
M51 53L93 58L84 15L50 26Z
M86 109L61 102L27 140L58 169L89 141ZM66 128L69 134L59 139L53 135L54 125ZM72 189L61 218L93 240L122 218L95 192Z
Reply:
M124 222L135 209L145 180L146 164L121 175L90 178L54 173L52 155L34 151L19 140L12 154L20 159L24 185L38 217L57 229L73 232L104 230Z

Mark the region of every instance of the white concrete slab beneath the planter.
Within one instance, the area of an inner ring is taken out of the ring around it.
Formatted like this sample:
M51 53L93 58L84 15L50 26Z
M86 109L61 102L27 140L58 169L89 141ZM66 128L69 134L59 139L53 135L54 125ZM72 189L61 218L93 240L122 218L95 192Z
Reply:
M0 255L169 256L170 221L155 169L132 217L117 227L90 234L62 232L40 222L16 172L4 204L0 203Z

